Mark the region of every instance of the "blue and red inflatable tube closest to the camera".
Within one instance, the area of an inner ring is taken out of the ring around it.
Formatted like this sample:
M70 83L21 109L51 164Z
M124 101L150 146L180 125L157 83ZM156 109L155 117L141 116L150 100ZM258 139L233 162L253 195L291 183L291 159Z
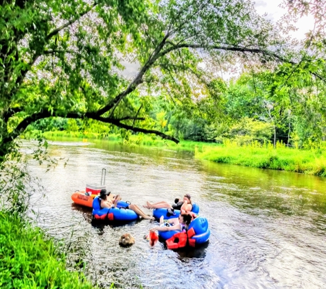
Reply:
M166 223L161 226L166 226ZM163 238L168 249L178 249L186 246L195 247L209 240L211 231L207 218L197 217L189 224L187 232L180 230L159 231L159 236Z

